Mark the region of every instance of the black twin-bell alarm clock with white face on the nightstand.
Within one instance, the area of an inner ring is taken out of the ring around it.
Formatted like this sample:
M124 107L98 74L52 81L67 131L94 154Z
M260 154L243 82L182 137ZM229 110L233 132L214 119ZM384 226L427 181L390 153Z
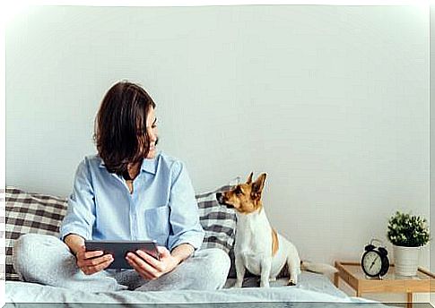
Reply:
M370 244L364 247L365 252L361 257L361 267L364 273L370 278L382 278L382 276L387 274L389 269L389 260L387 257L388 252L385 247L377 247L373 242L382 244L379 240L372 239Z

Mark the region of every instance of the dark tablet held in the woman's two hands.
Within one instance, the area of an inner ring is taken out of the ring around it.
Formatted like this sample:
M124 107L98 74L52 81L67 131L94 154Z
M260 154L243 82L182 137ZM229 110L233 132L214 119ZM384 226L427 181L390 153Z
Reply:
M107 269L133 269L126 261L126 254L135 253L138 249L159 260L157 244L154 241L84 241L84 245L86 252L102 251L113 256L114 260Z

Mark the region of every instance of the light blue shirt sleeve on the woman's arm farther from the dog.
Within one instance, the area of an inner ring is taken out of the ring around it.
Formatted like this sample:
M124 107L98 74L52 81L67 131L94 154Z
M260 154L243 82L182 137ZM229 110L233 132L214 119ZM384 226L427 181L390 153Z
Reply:
M84 158L77 167L73 193L68 198L68 209L60 226L62 240L72 233L86 240L91 239L92 226L95 221L95 198L87 165L87 159Z

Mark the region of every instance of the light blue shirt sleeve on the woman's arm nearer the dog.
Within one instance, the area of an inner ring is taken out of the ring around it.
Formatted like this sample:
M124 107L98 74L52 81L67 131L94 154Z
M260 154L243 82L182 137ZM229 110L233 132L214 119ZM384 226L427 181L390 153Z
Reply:
M195 191L183 163L174 163L174 180L170 188L170 251L179 244L191 244L195 250L204 240L199 222Z

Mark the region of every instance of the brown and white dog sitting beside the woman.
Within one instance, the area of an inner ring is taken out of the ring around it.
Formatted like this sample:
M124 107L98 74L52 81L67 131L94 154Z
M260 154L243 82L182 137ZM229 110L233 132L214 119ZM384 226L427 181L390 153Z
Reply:
M261 201L266 175L259 175L252 182L253 175L248 176L245 184L216 193L220 204L236 210L234 255L237 280L234 287L242 287L246 270L260 276L260 287L269 287L269 281L276 279L285 264L290 274L289 286L297 285L301 270L335 273L337 270L331 265L300 261L296 247L271 227Z

